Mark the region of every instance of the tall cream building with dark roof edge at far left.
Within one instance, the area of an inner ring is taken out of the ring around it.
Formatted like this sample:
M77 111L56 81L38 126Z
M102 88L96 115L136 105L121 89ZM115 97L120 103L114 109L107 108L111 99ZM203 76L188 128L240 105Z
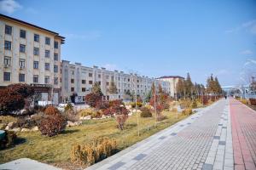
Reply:
M38 100L58 103L64 39L55 31L0 14L0 86L27 83Z

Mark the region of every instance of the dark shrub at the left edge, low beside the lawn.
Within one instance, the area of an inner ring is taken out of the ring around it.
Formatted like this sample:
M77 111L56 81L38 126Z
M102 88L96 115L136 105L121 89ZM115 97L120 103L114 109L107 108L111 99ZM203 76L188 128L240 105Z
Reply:
M5 136L3 139L0 139L0 149L3 150L15 144L17 135L13 131L5 131Z

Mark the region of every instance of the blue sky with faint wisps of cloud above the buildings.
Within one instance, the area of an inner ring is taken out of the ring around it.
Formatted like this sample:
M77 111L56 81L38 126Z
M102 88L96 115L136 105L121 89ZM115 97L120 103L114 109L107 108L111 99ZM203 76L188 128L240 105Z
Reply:
M222 85L256 69L255 0L2 0L0 12L59 32L73 63Z

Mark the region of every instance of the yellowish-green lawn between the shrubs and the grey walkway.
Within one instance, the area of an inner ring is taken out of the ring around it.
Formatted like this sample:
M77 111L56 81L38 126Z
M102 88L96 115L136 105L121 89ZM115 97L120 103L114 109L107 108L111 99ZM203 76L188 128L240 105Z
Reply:
M119 150L135 144L148 136L170 127L186 116L176 116L176 112L164 111L166 119L154 127L154 117L139 118L141 135L137 136L137 116L130 116L125 122L125 130L120 131L114 118L84 121L78 127L67 127L64 133L55 137L45 137L39 132L17 133L20 144L7 150L0 151L0 163L13 161L21 157L49 163L57 167L76 169L70 162L69 154L73 144L84 144L94 137L109 137L117 139Z

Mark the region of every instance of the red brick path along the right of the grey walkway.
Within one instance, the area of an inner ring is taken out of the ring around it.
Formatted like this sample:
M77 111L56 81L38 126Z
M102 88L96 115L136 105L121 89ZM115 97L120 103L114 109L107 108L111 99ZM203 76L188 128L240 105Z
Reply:
M256 111L230 99L235 170L256 170Z

